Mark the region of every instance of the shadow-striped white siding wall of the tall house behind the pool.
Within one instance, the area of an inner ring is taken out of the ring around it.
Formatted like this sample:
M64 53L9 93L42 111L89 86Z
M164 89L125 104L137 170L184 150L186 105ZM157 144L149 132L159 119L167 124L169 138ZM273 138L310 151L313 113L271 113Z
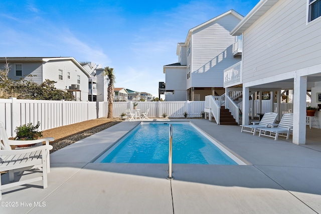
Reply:
M229 14L194 31L191 87L223 87L224 69L241 60L233 57L235 37L230 35L239 22Z

